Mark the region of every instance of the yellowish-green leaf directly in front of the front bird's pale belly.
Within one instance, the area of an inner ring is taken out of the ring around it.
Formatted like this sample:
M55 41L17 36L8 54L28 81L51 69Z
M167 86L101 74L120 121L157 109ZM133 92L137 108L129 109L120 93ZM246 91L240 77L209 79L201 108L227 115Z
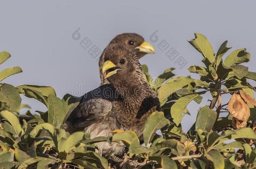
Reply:
M112 141L123 141L125 146L129 147L131 142L135 141L136 144L140 144L138 136L134 133L134 131L128 130L120 133L116 133L112 136Z

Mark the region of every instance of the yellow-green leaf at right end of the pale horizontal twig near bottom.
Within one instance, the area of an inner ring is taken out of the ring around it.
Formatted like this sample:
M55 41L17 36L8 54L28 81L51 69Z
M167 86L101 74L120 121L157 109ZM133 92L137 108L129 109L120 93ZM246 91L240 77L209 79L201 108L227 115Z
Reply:
M214 169L224 169L225 161L222 158L222 155L217 150L211 150L207 154L205 154L207 159L213 162Z

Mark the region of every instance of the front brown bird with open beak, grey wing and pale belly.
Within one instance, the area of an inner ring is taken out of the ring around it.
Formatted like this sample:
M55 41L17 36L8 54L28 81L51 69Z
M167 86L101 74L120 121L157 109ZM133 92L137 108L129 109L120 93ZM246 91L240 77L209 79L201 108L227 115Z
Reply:
M102 74L110 83L83 96L65 122L65 129L71 133L83 130L91 139L112 136L118 129L133 130L142 138L147 117L160 111L160 103L144 80L136 53L120 43L109 45L104 50ZM125 146L116 142L100 142L97 147L107 158L125 153Z

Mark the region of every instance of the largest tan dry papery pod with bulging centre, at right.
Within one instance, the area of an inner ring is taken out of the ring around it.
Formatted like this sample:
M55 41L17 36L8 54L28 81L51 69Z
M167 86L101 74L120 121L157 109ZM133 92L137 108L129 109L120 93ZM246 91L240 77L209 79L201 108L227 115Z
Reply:
M240 94L234 93L227 105L230 114L238 120L247 121L250 116L250 108L243 101Z

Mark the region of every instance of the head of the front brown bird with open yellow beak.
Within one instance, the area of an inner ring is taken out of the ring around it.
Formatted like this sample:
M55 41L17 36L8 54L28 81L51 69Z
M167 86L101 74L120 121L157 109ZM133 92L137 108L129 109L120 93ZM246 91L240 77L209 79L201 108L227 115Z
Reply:
M145 82L136 53L120 43L110 45L104 51L102 74L110 83L118 86L122 86L121 83L124 82L134 84Z

